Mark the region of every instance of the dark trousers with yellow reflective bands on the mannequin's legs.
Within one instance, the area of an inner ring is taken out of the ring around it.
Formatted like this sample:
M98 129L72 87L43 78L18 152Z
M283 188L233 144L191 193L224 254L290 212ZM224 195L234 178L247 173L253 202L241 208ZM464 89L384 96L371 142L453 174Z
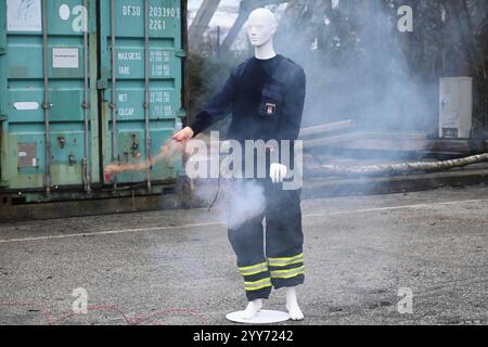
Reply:
M249 301L267 299L272 287L305 281L301 190L283 190L270 179L228 181L228 235ZM230 221L235 215L241 220ZM230 221L230 222L229 222Z

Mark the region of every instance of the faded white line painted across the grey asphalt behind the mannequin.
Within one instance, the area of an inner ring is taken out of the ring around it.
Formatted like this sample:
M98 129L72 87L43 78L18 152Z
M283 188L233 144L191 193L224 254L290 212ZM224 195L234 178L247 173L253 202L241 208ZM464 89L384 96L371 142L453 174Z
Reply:
M348 210L343 210L343 211L333 211L333 213L325 213L325 214L306 214L306 215L303 215L303 217L304 218L331 217L331 216L344 216L344 215L352 215L352 214L385 211L385 210L429 208L433 206L449 206L449 205L472 204L472 203L488 203L488 200L464 200L464 201L457 201L457 202L444 202L444 203L432 203L432 204L415 204L415 205L402 205L402 206L390 206L390 207L348 209ZM217 227L217 226L223 226L223 223L219 222L219 221L213 221L213 222L207 222L207 223L195 223L195 224L167 226L167 227L140 228L140 229L106 230L106 231L94 231L94 232L87 232L87 233L66 234L66 235L48 235L48 236L39 236L39 237L8 239L8 240L0 240L0 244L16 243L16 242L30 242L30 241L46 241L46 240L56 240L56 239L70 239L70 237L85 237L85 236L94 236L94 235L114 235L114 234L125 234L125 233L132 233L132 232L151 232L151 231L162 231L162 230Z

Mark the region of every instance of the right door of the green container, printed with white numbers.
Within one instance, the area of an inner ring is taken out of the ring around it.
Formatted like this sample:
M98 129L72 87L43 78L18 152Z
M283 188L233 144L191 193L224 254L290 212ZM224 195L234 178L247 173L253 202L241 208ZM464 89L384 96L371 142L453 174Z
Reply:
M141 164L180 128L182 18L178 0L102 0L103 163ZM105 177L106 183L174 180L181 158L146 171Z

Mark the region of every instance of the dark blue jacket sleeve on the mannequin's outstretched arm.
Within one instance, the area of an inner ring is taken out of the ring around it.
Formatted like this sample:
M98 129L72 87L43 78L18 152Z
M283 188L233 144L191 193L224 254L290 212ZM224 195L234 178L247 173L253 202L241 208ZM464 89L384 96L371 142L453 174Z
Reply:
M194 136L231 113L235 88L236 68L230 73L223 88L195 115L193 123L190 125Z

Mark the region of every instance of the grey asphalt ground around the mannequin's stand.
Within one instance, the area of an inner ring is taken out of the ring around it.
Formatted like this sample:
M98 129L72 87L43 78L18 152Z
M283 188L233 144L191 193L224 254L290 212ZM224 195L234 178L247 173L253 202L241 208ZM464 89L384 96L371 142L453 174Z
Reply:
M303 211L306 319L286 324L487 324L487 185ZM245 305L219 210L0 224L0 324L227 324Z

